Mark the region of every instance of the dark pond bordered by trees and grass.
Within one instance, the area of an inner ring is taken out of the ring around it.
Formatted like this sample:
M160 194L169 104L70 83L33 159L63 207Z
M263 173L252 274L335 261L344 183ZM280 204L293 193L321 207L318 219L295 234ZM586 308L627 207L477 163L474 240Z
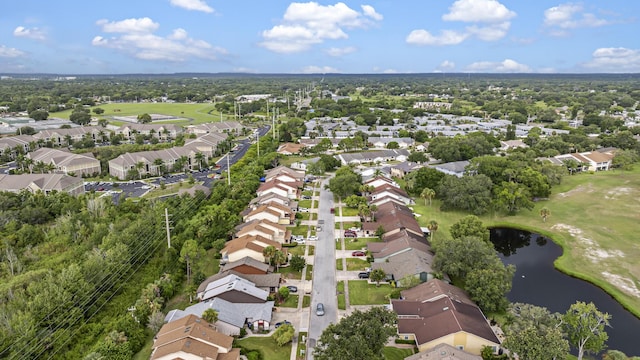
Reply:
M509 301L559 313L576 301L593 302L611 315L611 327L606 329L608 349L640 356L640 319L599 287L556 270L553 261L562 255L560 246L538 234L508 228L491 229L491 241L502 261L516 266Z

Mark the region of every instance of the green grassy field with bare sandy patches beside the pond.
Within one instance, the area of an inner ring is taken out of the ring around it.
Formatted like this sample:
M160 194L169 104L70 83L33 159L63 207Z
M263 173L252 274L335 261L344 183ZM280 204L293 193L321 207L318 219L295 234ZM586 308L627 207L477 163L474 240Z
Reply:
M555 262L559 270L601 287L640 317L640 167L566 176L552 191L532 211L481 219L489 227L515 227L552 238L564 249ZM421 226L431 219L438 222L436 238L449 236L451 224L466 215L440 211L437 201L432 206L417 203L413 208L422 214ZM551 211L546 222L539 215L542 207Z

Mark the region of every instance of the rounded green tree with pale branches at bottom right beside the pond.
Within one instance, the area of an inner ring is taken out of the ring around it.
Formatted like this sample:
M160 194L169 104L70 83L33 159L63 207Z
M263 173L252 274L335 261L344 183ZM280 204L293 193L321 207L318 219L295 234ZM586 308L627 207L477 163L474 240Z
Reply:
M578 349L578 360L582 360L585 351L604 349L609 338L604 328L610 326L610 319L611 315L598 311L592 302L578 301L569 307L562 324L569 343Z

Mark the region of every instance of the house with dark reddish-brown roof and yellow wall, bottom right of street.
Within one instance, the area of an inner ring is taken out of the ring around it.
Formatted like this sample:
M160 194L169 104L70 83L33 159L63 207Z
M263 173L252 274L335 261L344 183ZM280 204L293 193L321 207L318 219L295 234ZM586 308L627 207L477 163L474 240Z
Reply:
M474 355L489 346L497 353L500 340L480 308L462 290L432 279L401 292L392 300L398 314L398 337L414 340L425 351L441 343Z

